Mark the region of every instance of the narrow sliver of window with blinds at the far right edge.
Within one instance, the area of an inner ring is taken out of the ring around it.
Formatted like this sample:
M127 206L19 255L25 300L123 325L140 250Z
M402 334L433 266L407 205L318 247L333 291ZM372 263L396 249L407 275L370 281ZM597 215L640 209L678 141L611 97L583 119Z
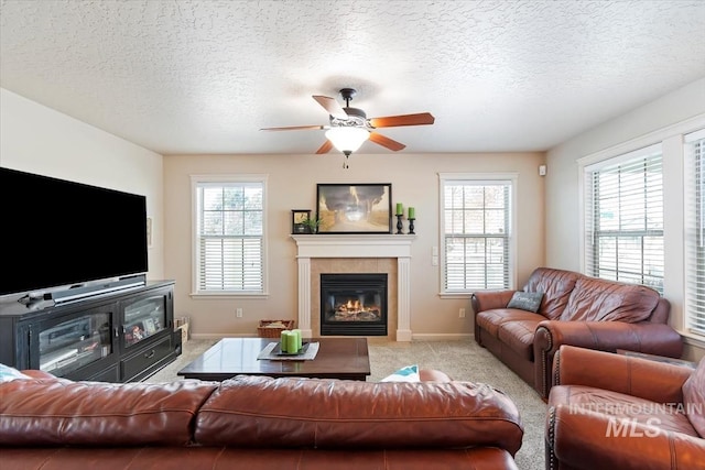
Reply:
M685 141L685 321L705 335L705 129Z

